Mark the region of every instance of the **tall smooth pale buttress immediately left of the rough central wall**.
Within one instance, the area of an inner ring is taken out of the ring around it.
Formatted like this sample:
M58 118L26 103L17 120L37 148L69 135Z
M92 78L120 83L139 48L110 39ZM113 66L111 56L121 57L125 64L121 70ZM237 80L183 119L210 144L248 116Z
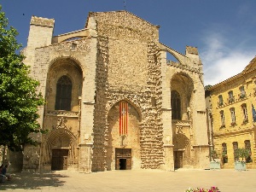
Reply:
M93 146L94 111L96 105L96 54L97 39L92 36L94 28L90 28L90 55L86 55L83 72L84 82L81 100L81 122L79 140L79 171L91 171L91 154Z

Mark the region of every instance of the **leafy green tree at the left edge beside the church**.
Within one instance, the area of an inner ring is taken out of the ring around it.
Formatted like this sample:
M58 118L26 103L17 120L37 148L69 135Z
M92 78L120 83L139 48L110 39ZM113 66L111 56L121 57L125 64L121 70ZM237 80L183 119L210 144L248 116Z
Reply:
M24 56L16 54L21 47L17 35L0 5L0 145L9 148L36 144L30 133L42 131L37 112L44 104L39 82L29 77Z

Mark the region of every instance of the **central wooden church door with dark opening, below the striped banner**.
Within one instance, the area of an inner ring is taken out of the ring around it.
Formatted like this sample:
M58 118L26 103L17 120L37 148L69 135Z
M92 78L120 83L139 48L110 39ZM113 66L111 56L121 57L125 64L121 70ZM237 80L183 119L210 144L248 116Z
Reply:
M116 170L120 169L120 159L125 159L125 170L131 170L131 148L115 148Z

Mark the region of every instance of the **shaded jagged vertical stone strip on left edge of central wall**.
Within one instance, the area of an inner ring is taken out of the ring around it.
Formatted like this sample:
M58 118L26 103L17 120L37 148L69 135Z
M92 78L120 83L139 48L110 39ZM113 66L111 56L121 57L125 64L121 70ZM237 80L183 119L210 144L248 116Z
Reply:
M98 38L98 54L96 61L96 104L93 126L93 154L91 171L107 170L107 91L108 91L108 38Z

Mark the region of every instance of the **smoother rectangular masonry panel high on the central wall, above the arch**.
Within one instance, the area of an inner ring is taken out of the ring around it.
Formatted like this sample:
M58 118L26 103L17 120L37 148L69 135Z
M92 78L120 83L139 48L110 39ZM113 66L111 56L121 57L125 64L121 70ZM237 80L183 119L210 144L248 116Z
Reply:
M145 91L148 79L147 42L140 42L137 39L119 39L110 40L108 46L109 89Z

